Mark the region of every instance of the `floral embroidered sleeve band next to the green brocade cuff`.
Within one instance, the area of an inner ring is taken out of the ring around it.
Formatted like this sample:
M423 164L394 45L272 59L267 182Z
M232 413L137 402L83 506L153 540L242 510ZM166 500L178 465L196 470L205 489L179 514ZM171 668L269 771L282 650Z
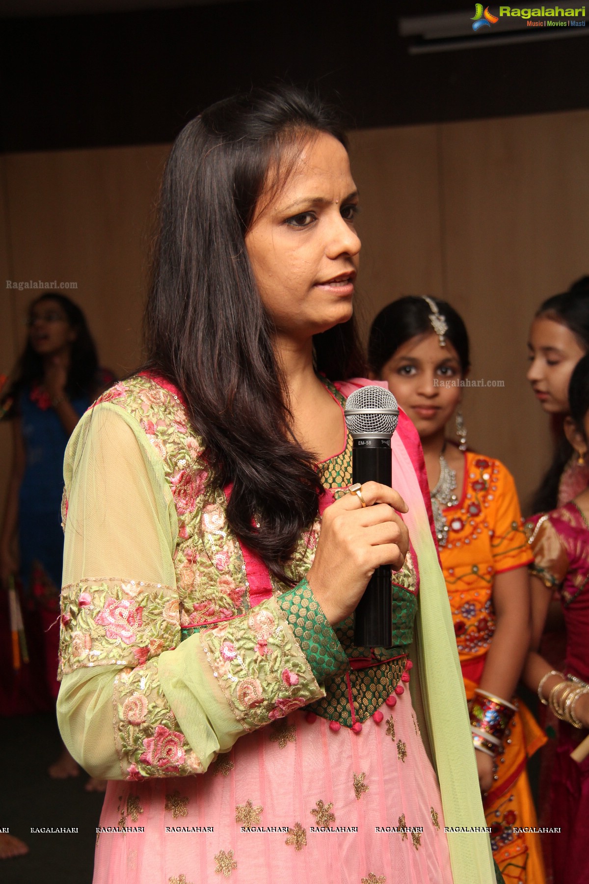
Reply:
M275 598L261 602L249 617L203 629L199 636L230 710L246 731L321 696Z

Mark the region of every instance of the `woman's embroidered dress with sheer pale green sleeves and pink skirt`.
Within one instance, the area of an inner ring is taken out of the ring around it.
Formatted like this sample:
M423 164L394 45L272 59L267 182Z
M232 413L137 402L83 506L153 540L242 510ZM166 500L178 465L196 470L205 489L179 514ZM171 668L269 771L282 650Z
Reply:
M321 517L294 589L277 583L230 531L230 488L206 496L201 455L179 394L140 376L66 456L58 719L110 780L94 884L451 884L409 690L415 550L394 575L395 647L355 648L305 580ZM321 469L320 513L351 484L349 438Z

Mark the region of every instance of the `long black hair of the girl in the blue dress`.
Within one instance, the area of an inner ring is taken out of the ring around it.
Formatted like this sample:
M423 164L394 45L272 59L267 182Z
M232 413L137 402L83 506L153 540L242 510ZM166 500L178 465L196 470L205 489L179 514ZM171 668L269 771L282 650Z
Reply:
M64 310L73 331L76 332L76 337L71 344L70 366L65 391L72 398L92 396L96 385L98 356L94 339L87 326L86 316L70 298L59 292L48 290L29 304L29 320L34 307L43 301L56 301ZM11 418L16 415L19 392L35 384L40 384L43 373L43 357L35 352L30 339L27 338L25 349L13 372L13 380L0 399L0 408L4 409L3 417Z

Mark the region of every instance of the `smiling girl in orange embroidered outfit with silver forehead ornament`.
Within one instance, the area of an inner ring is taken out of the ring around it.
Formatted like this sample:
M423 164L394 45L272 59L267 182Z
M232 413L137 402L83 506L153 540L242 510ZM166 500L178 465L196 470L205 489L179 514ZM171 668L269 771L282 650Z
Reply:
M415 423L425 454L493 856L506 884L543 884L539 836L518 831L536 825L525 766L546 742L513 697L530 636L530 552L509 471L466 451L464 323L444 301L401 298L374 320L369 357ZM459 446L446 438L455 412Z

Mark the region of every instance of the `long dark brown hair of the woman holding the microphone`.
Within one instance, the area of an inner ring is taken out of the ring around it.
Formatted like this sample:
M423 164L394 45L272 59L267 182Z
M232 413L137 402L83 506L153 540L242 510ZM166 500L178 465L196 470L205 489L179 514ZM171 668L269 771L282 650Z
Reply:
M346 145L334 111L290 87L237 95L185 126L163 175L145 316L147 367L183 392L205 446L209 490L232 483L231 529L283 581L321 484L313 454L291 436L245 234L266 188L277 192L318 133ZM363 373L353 320L316 335L314 348L328 377Z

